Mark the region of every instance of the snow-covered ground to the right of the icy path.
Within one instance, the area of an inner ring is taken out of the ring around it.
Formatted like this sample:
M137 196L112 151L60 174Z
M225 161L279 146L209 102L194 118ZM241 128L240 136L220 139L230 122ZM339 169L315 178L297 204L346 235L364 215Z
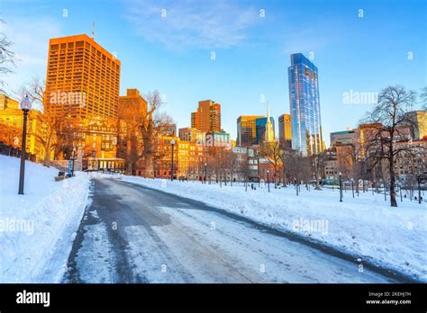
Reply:
M275 190L270 185L257 190L233 184L170 182L123 176L123 181L203 201L214 207L236 213L272 228L292 231L355 255L359 262L396 269L427 282L427 208L408 198L390 208L384 194L360 192L352 198L338 190L309 192L294 187ZM301 260L304 262L304 260Z

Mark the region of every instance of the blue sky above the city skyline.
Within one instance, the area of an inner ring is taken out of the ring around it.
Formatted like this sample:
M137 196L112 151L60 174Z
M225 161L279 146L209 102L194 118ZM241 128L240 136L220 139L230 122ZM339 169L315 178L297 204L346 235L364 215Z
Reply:
M49 38L90 35L95 22L95 40L122 61L121 94L158 89L178 128L189 126L199 100L211 99L222 104L232 138L239 115L266 113L261 94L275 120L289 112L290 53L312 53L318 67L327 144L330 132L356 127L371 107L345 104L343 93L427 85L422 0L2 0L0 13L20 59L7 91L46 76Z

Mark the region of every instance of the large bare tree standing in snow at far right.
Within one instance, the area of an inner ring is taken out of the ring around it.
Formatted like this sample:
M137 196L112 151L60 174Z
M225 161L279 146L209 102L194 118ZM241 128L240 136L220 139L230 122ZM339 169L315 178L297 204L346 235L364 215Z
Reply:
M395 145L397 140L413 136L414 121L406 114L406 108L415 103L415 93L403 86L388 86L378 96L376 107L367 113L364 123L372 125L367 148L373 165L386 162L390 184L390 205L397 207L395 200L395 161L399 154L410 152L411 147ZM410 131L410 134L408 134Z

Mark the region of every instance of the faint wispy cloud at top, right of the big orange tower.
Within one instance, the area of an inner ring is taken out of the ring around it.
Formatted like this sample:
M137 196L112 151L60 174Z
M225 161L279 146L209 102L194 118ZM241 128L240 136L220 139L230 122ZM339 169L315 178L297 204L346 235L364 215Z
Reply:
M235 47L259 21L258 9L222 0L134 2L127 11L137 34L170 49Z

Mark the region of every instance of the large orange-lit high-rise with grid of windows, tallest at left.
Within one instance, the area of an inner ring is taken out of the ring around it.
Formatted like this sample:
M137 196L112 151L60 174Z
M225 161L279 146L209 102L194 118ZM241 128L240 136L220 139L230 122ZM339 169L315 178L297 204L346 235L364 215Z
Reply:
M51 39L45 112L117 119L120 61L86 34Z

